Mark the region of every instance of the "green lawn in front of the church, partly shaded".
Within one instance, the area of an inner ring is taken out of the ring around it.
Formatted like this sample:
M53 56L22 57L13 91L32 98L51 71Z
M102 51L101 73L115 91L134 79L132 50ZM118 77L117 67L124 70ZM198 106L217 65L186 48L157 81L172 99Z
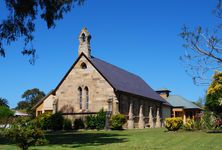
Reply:
M46 135L49 143L31 147L41 150L94 149L94 150L221 150L222 134L205 132L165 132L165 129L125 131L58 132ZM0 149L18 149L0 138Z

